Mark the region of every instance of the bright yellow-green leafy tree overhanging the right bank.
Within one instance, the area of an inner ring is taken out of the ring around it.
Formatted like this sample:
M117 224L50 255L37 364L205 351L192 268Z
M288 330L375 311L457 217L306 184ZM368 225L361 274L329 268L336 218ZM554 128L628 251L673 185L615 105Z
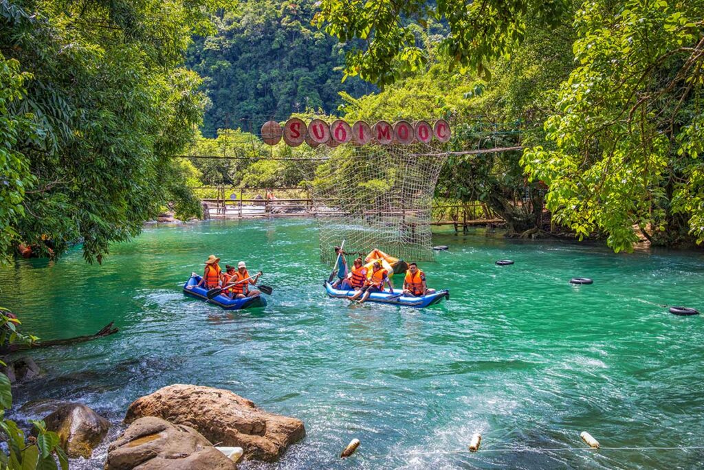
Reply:
M548 208L616 251L638 234L704 241L704 2L595 1L575 15L577 67L522 159Z

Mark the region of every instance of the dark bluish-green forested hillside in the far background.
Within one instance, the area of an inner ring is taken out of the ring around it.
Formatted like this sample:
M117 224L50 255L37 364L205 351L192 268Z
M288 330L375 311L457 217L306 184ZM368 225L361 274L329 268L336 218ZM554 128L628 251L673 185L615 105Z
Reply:
M246 0L215 18L217 31L195 37L187 64L203 77L210 103L204 136L269 118L282 120L306 108L329 113L352 96L376 90L353 77L341 82L344 46L310 25L313 0ZM243 121L244 120L244 121Z

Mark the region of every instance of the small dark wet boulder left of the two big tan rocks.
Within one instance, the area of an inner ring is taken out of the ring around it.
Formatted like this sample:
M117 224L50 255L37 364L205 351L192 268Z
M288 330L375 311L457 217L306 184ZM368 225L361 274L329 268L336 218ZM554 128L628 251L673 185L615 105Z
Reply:
M88 459L110 427L107 419L80 403L61 405L44 418L44 423L49 431L58 434L61 447L73 459Z

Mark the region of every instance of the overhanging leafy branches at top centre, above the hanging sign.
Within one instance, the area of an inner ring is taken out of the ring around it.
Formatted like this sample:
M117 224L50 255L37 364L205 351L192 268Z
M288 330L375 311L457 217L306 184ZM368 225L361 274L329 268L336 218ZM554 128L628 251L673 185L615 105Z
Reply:
M529 23L555 27L566 7L563 0L322 0L315 20L340 42L363 40L346 54L345 74L384 87L428 61L413 23L445 23L438 52L448 66L470 66L488 79L487 65L520 43Z

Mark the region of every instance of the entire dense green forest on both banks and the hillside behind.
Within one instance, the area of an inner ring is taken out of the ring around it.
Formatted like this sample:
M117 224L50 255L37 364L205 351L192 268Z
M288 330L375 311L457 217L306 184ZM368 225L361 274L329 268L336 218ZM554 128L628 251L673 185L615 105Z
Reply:
M702 18L703 0L2 0L0 253L100 261L167 205L199 215L193 186L295 184L289 162L173 156L306 156L256 141L297 112L523 146L452 156L436 193L515 234L701 242Z

